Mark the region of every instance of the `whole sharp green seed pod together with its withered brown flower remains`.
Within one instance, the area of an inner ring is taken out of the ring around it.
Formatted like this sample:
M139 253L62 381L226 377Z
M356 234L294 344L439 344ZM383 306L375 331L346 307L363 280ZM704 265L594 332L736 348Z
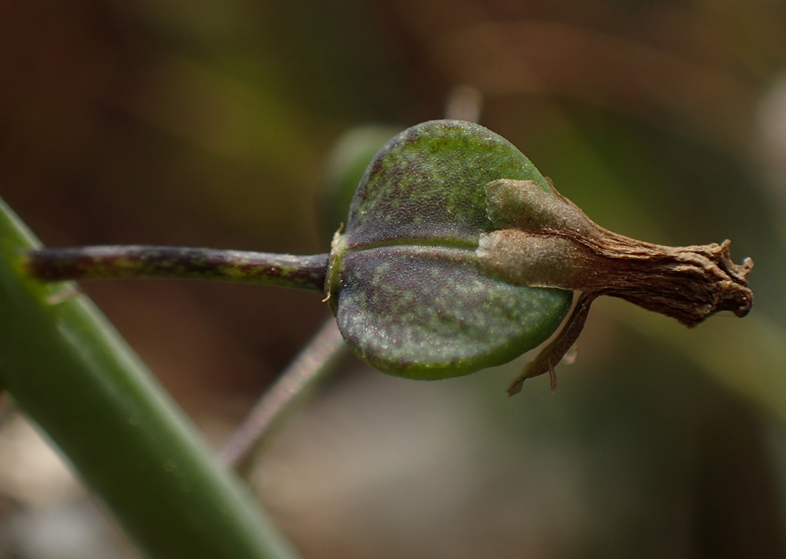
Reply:
M325 294L355 355L414 379L509 362L564 322L510 386L516 394L543 373L556 385L553 367L597 296L691 326L747 314L752 267L731 261L729 241L671 248L605 230L505 138L435 120L393 138L365 171L332 242Z

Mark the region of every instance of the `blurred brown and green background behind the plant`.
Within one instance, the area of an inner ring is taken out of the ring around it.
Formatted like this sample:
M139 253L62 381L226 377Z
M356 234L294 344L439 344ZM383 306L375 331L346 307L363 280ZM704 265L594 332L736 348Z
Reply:
M0 2L0 195L46 245L327 252L344 134L465 98L601 225L732 239L754 309L688 330L598 301L554 394L505 395L526 356L435 383L351 362L266 451L267 509L306 558L786 557L783 2ZM216 444L329 315L84 287ZM0 557L133 557L99 510L6 420Z

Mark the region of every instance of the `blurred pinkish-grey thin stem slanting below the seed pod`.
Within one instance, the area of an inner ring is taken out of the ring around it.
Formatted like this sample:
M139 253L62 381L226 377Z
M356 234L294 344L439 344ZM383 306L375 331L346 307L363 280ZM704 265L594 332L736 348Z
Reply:
M335 371L349 355L336 321L329 318L281 377L262 395L243 423L219 451L219 460L248 471L254 450L263 447L282 417Z

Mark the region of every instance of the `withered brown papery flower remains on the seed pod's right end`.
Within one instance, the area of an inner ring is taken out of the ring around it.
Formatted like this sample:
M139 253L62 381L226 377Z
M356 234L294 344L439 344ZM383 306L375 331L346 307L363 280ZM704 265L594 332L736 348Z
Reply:
M553 366L575 342L597 296L619 297L688 326L718 311L743 317L751 310L746 276L753 261L733 263L730 241L689 247L636 241L598 226L553 186L547 193L533 181L491 182L486 193L495 230L480 237L483 273L516 285L582 292L560 334L510 394L543 373L554 384Z

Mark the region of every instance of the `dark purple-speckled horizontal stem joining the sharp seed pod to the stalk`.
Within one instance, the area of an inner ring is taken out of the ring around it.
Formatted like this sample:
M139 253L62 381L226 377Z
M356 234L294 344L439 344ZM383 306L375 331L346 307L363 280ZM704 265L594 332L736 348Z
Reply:
M130 245L42 248L24 253L22 263L42 281L189 278L321 292L328 255Z

